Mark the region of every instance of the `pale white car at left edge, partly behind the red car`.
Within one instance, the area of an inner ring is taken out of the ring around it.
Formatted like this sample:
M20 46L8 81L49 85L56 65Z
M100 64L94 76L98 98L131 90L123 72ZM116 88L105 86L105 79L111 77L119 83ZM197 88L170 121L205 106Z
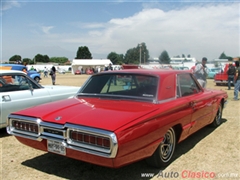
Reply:
M0 70L0 128L7 126L11 112L73 97L79 89L74 86L42 86L22 71Z

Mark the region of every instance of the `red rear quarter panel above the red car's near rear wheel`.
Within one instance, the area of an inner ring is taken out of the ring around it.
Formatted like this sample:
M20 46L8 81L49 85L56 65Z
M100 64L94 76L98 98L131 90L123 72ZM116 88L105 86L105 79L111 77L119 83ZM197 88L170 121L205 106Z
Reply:
M119 145L117 164L151 156L170 127L177 124L182 127L191 121L192 109L186 99L176 99L156 106L159 108L155 112L140 117L115 132ZM187 135L187 131L183 130L182 134Z

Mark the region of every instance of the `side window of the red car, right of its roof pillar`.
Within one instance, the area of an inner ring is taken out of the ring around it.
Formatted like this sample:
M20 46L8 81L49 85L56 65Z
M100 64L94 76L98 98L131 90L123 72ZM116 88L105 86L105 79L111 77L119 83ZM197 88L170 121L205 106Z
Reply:
M190 74L179 74L177 80L177 97L196 94L200 88Z

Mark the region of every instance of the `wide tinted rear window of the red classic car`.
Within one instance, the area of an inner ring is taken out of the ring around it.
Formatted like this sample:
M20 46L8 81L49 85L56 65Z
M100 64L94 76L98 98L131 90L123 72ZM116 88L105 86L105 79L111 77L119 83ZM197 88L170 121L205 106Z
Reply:
M79 95L153 100L157 93L157 82L158 78L150 75L101 74L92 76Z

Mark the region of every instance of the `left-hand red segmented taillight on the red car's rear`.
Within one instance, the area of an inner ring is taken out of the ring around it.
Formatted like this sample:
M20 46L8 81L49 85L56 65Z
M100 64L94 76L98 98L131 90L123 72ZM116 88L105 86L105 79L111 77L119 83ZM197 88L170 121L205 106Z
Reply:
M30 132L38 134L38 125L34 123L22 122L22 121L12 121L12 126L16 130Z

